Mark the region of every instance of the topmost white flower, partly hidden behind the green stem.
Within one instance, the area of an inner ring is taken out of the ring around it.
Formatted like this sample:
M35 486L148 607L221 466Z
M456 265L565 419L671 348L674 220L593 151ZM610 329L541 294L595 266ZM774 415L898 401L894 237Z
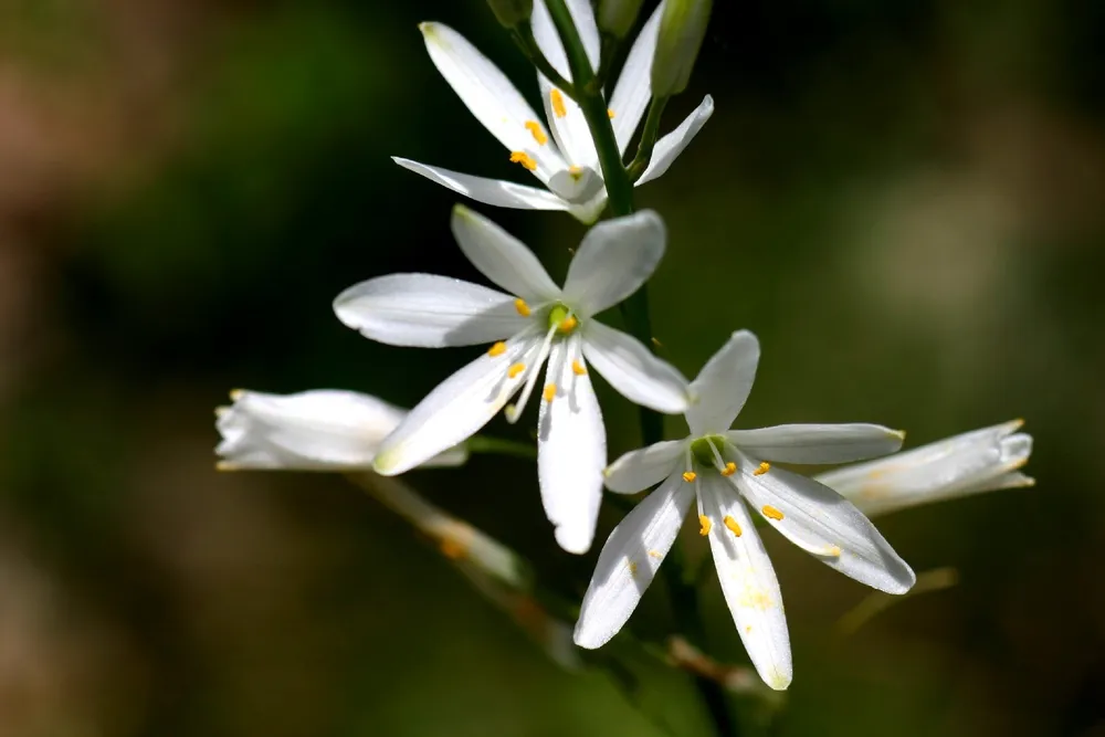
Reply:
M641 30L610 97L609 114L623 154L652 95L649 80L663 4ZM594 66L600 40L591 4L589 0L568 0L568 8ZM528 169L546 189L473 177L398 157L396 164L478 202L525 210L567 210L586 223L593 222L606 207L607 192L579 106L538 74L546 127L511 81L461 34L441 23L422 23L419 29L430 59L461 101L506 146L511 160ZM546 59L570 81L564 46L541 0L534 3L533 29ZM636 183L667 171L713 112L714 101L707 95L680 127L656 141L652 160Z

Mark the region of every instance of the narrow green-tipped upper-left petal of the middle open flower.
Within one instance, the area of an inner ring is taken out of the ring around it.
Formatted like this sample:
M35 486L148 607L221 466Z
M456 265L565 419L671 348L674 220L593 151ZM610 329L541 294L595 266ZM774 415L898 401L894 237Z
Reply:
M534 252L487 218L457 204L453 208L452 227L461 251L495 284L532 302L549 302L560 296L560 287Z

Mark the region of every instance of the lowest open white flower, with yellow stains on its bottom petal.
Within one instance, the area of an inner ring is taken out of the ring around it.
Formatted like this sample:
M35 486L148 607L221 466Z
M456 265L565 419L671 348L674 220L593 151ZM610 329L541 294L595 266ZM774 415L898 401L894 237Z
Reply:
M691 436L627 453L606 472L607 486L634 493L657 482L610 534L583 597L576 643L599 647L625 623L675 541L691 502L709 547L737 631L772 688L790 684L790 640L771 561L746 504L822 562L891 593L915 577L852 504L783 463L842 463L892 453L902 433L873 424L792 424L729 430L751 390L759 344L734 333L691 385Z

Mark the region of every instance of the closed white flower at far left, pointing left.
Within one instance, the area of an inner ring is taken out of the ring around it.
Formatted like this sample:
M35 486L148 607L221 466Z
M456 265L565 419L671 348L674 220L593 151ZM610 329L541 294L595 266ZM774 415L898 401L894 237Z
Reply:
M355 391L318 389L265 394L235 389L231 407L215 410L222 442L219 468L355 471L372 467L380 442L407 415L398 407ZM445 449L422 465L460 465L463 448Z

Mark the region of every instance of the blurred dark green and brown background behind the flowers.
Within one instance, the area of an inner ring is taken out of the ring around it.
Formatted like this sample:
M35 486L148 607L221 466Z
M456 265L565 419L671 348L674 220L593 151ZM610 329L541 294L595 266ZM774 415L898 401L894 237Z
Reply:
M866 591L767 536L796 666L770 729L1105 735L1105 4L715 4L664 127L707 92L717 112L639 193L670 228L667 357L693 376L755 330L744 427L916 445L1024 417L1036 440L1035 488L880 520L960 582L856 634L836 622ZM534 96L474 0L0 2L0 736L662 734L341 478L213 470L233 387L409 406L477 350L371 344L330 310L388 272L481 280L456 198L389 156L526 180L436 74L428 19ZM562 276L581 225L477 207ZM635 413L600 392L613 456ZM408 480L582 592L594 552L556 549L532 464ZM714 654L745 662L707 580ZM633 623L666 622L657 586ZM653 709L703 734L652 671Z

